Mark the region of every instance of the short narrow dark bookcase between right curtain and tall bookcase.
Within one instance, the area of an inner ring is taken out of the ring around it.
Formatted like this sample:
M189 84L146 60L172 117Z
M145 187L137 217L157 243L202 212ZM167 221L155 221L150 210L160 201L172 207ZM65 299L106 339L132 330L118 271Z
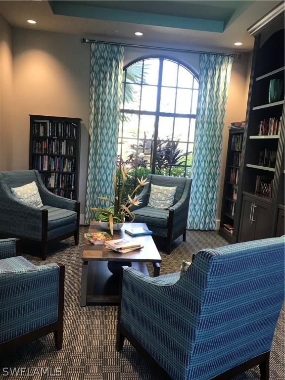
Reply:
M231 127L229 129L229 142L227 151L224 191L222 200L222 212L220 221L220 235L230 243L238 239L236 223L236 207L240 191L240 168L242 157L244 128ZM232 227L232 233L224 225Z

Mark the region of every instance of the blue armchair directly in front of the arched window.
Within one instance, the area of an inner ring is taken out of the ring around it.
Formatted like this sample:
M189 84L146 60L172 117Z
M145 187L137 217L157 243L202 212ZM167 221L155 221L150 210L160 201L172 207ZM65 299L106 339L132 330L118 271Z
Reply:
M172 242L183 235L186 241L187 217L191 190L190 178L168 177L149 174L149 184L144 186L141 193L142 203L132 207L135 222L146 223L153 235L166 241L166 251L171 252ZM169 209L148 206L151 184L165 187L177 187L173 205Z

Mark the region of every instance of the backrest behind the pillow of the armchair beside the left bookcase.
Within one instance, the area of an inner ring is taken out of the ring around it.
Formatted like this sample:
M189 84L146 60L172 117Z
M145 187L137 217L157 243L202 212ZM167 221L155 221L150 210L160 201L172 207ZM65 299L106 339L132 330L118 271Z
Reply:
M27 185L33 181L36 182L41 194L41 188L44 185L37 170L11 170L0 172L0 191L9 191L9 193L11 193L11 188Z

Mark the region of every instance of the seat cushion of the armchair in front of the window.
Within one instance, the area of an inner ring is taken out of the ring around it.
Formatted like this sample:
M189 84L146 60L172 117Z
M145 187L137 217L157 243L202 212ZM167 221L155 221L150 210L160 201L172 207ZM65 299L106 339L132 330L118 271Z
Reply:
M167 227L169 210L145 206L133 211L135 222L146 223L153 226Z

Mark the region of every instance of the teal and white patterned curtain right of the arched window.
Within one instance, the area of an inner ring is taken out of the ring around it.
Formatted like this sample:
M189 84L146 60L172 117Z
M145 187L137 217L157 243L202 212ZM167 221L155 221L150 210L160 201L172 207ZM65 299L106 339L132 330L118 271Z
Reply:
M187 228L214 230L224 118L233 57L201 54Z

